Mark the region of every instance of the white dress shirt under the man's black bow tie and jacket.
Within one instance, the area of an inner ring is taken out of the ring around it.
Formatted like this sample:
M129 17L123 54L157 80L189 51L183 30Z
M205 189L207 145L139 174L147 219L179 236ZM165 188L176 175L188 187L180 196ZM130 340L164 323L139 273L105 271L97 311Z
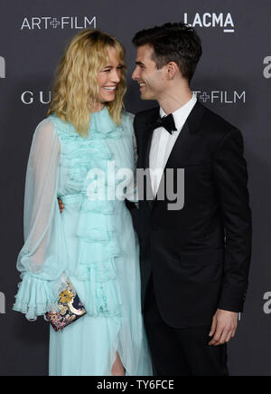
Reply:
M178 138L182 126L192 111L193 106L197 101L195 93L192 99L184 104L179 110L173 112L173 118L176 126L176 131L170 134L164 127L159 127L154 130L150 149L150 175L154 196L157 193L161 178L163 176L164 167L171 154L174 143ZM160 107L160 116L164 117L166 113Z

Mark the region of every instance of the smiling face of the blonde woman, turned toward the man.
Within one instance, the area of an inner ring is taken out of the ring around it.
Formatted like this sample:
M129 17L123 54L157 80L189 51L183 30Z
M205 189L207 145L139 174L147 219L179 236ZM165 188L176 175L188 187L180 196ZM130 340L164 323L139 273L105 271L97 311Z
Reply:
M108 63L98 72L98 102L105 103L115 99L117 84L120 82L123 66L119 62L117 50L109 47Z

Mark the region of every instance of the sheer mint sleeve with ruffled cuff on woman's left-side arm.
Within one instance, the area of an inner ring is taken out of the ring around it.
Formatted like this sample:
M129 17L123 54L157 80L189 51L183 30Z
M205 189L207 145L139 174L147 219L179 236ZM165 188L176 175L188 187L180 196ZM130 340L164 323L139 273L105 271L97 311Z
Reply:
M33 135L26 170L24 245L17 260L23 281L13 308L31 320L54 310L65 268L65 238L57 200L60 150L53 123L42 120Z

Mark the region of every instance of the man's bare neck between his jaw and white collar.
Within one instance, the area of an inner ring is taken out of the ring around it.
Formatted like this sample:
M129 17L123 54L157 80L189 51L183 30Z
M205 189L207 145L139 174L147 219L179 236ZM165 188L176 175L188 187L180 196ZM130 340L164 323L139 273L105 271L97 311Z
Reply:
M192 99L192 90L189 86L174 88L172 91L165 91L163 97L158 100L160 107L166 114L179 110L184 104Z

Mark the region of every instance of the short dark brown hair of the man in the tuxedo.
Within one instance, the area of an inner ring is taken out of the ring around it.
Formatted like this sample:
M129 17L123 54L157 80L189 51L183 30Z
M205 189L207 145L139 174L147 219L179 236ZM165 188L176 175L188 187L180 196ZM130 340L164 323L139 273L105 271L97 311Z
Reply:
M135 46L150 45L154 48L153 60L157 69L168 62L176 62L183 78L189 82L201 58L201 39L195 30L182 22L163 24L141 30L133 38Z

